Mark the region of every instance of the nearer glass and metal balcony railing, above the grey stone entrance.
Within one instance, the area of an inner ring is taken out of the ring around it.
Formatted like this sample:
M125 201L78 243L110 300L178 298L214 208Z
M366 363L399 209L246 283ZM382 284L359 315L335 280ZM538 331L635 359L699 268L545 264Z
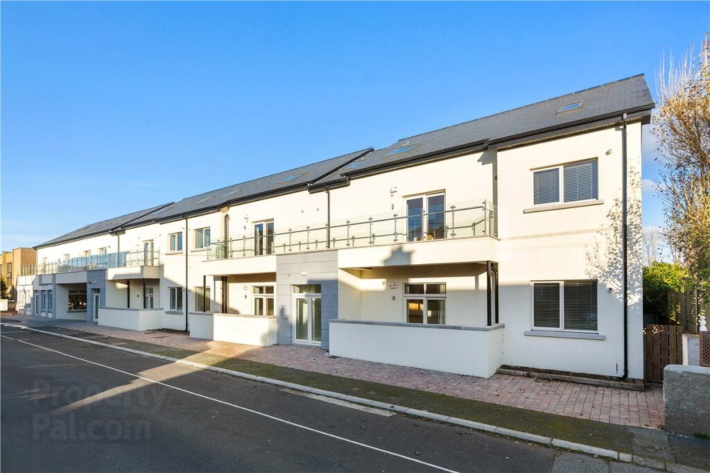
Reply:
M266 234L243 234L212 243L208 260L268 254L346 249L408 241L434 241L498 235L497 211L488 200L451 205L421 214L381 214L353 220L289 228Z

